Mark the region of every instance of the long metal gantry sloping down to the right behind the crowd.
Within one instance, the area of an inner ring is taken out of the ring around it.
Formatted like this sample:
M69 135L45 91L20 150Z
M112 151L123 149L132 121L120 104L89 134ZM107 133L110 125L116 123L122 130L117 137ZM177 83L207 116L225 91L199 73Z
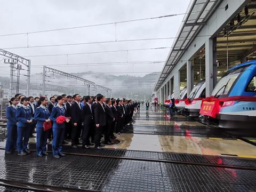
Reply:
M101 86L101 85L96 85L94 82L92 81L89 81L87 79L84 79L82 77L78 77L76 75L72 75L72 74L69 74L69 73L66 73L66 72L63 72L61 70L58 70L58 69L53 69L53 68L50 68L50 67L46 67L46 66L43 66L43 94L45 94L45 87L46 85L48 86L55 86L55 87L62 87L62 86L59 86L59 85L50 85L50 84L46 84L46 73L55 73L55 74L59 74L59 75L63 75L63 76L66 76L66 77L70 77L70 78L74 78L74 79L77 79L79 81L82 81L84 83L84 85L87 86L87 94L90 95L90 89L91 87L93 87L94 89L98 89L98 88L101 88L102 90L106 91L106 94L108 95L108 92L111 92L111 89L107 88L107 87L104 87L104 86ZM67 87L63 87L63 89L67 89ZM74 90L74 89L73 89Z

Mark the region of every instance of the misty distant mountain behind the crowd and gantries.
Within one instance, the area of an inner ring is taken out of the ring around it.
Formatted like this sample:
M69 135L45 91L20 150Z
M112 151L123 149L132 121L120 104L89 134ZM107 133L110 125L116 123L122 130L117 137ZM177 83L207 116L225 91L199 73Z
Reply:
M150 73L143 77L136 77L131 75L112 75L107 73L93 73L92 71L87 71L83 73L72 73L73 75L88 79L97 85L108 87L112 90L112 95L109 97L115 98L134 98L134 99L149 99L150 94L153 92L154 84L159 77L159 73ZM31 75L31 93L33 90L42 90L42 73ZM9 85L9 78L0 77L0 82L5 87ZM80 94L87 94L86 85L83 85L81 81L76 81L75 79L68 78L62 75L47 73L46 83L51 85L59 85L63 87L69 87L74 89L75 92ZM24 87L26 89L26 82L20 82L21 89ZM47 90L58 91L66 93L62 88L58 87L47 87ZM102 90L94 90L93 87L90 89L90 94L104 93ZM71 93L70 93L71 94Z

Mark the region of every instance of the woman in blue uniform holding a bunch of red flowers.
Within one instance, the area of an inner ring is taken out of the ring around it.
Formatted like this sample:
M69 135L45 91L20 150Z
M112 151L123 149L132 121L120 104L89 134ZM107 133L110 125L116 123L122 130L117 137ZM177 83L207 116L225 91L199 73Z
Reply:
M62 153L62 142L65 133L65 123L58 124L56 122L57 117L65 116L65 109L63 108L64 99L62 96L58 96L55 100L57 105L52 109L50 116L51 121L53 122L52 131L53 131L53 140L52 140L52 154L54 158L60 158L66 156ZM66 122L69 122L69 119L66 119Z

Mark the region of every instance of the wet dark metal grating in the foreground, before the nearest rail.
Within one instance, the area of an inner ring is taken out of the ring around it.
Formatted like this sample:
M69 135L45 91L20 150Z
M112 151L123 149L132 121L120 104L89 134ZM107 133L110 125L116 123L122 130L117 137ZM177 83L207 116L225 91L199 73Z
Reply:
M68 155L4 156L0 179L97 191L253 191L256 171Z

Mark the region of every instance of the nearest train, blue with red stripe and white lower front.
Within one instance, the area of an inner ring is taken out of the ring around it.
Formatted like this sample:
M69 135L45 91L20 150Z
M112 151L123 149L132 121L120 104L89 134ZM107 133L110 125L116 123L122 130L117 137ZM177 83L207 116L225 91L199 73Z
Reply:
M218 98L219 127L256 127L256 60L241 63L221 77L212 92Z

